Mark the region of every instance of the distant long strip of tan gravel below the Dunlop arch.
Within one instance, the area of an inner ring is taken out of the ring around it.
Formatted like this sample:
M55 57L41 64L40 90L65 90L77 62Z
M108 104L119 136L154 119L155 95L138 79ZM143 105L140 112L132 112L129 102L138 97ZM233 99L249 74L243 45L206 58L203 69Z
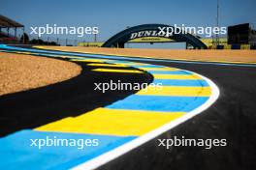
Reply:
M41 46L39 46L41 47ZM200 60L212 62L246 62L256 63L256 50L238 49L140 49L140 48L107 48L107 47L83 47L83 46L42 46L48 49L77 51L98 54L113 54L127 56L142 56L158 59L176 60Z

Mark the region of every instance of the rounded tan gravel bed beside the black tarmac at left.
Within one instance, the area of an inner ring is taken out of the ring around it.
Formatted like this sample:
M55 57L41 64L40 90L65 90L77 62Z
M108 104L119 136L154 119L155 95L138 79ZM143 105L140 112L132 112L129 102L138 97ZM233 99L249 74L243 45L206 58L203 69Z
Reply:
M61 82L80 71L67 61L0 52L0 96Z

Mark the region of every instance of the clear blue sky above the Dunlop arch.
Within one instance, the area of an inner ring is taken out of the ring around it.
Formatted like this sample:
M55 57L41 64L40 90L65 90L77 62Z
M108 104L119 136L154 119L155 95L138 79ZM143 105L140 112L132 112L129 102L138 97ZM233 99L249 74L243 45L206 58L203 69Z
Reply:
M0 14L26 26L99 26L106 41L144 23L214 26L217 0L1 0ZM256 22L256 0L220 0L220 25ZM63 38L63 37L60 37ZM69 36L70 39L78 39ZM92 41L92 36L84 37Z

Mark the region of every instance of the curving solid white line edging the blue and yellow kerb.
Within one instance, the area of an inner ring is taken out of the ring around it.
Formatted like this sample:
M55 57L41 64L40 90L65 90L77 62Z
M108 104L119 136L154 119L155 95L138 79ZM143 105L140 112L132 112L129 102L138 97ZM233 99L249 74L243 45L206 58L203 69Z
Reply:
M170 130L171 128L175 128L176 126L178 126L179 124L191 119L192 117L200 114L201 112L203 112L204 110L208 109L208 107L215 102L216 99L218 99L219 97L219 89L218 87L207 77L198 74L196 72L193 71L189 71L192 72L194 74L197 74L199 76L201 76L203 79L205 79L208 82L208 85L211 88L211 95L208 98L208 100L202 104L201 106L195 108L194 110L186 113L184 116L177 118L175 121L172 121L169 124L166 124L160 128L156 128L130 142L127 142L115 149L113 149L110 152L107 152L101 156L97 156L95 158L92 158L91 160L85 161L75 167L72 168L72 170L92 170L95 169L109 161L111 161L112 159L121 156L125 153L128 153L129 151L143 145L145 142L157 137L158 135Z

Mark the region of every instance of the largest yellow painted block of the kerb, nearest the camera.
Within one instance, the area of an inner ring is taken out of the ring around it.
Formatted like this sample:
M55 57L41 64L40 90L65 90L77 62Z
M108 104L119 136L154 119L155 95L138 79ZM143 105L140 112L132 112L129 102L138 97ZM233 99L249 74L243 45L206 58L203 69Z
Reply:
M184 112L154 112L97 108L76 118L65 118L41 131L59 131L107 135L143 135L184 115Z

